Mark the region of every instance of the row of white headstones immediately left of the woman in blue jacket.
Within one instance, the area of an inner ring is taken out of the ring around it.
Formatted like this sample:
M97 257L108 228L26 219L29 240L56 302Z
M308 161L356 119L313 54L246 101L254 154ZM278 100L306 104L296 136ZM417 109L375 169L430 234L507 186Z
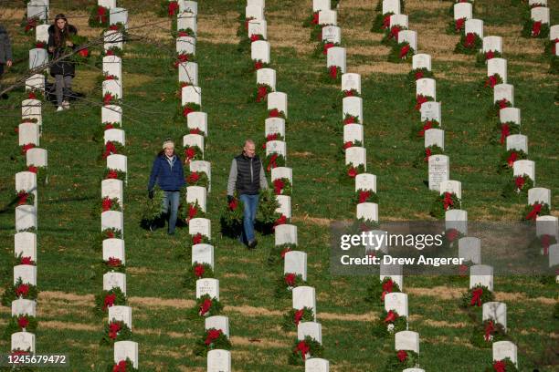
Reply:
M98 1L98 5L111 9L110 24L122 23L127 26L128 13L125 9L117 8L116 1ZM120 33L119 33L120 34ZM115 35L113 31L106 31L105 35L111 37L104 38L104 50L111 47L123 48L121 34ZM102 83L102 97L111 94L116 99L122 99L122 61L121 57L106 56L102 60L102 73L105 77ZM106 127L111 124L111 129L106 129L103 134L103 144L108 142L118 143L122 147L126 145L126 136L122 126L122 109L117 105L104 105L101 108L101 125ZM118 127L118 128L117 128ZM126 253L124 243L124 185L128 177L128 160L125 155L111 154L107 157L106 168L114 171L126 173L125 181L119 179L106 179L101 181L101 201L105 198L113 199L119 203L121 211L101 212L101 232L106 229L115 229L122 233L122 236L104 239L102 242L102 259L107 262L110 259L118 259L121 264L126 264ZM103 290L110 291L118 287L123 294L126 294L126 274L110 271L103 274ZM132 330L132 307L126 305L112 305L109 307L107 321L122 321ZM130 340L117 341L114 343L113 361L115 364L125 361L127 358L132 361L132 366L138 368L138 343Z

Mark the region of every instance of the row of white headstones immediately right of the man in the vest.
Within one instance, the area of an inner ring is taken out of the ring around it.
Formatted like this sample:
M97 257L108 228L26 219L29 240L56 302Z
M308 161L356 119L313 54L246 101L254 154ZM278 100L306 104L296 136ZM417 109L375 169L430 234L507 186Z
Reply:
M246 7L245 18L248 21L248 37L253 35L261 35L265 39L268 38L267 22L264 17L264 1L248 1ZM269 42L265 40L257 40L251 43L251 59L256 62L269 64L270 47ZM272 117L265 120L264 135L269 138L270 135L279 135L283 140L267 140L266 156L278 154L283 156L287 161L287 144L286 144L286 119L288 118L288 95L276 90L276 70L273 68L257 69L257 86L266 84L271 88L271 92L265 98L267 101L267 109L278 110L283 113L284 118ZM289 167L271 168L271 182L276 180L288 179L293 184L293 172ZM291 199L289 195L276 195L280 204L276 212L291 219ZM297 246L297 226L291 223L284 223L275 226L274 229L275 245L290 244ZM290 250L285 253L283 262L283 274L301 275L304 282L307 281L307 253L301 251ZM311 286L301 285L294 287L292 293L292 308L301 310L303 307L312 309L314 319L311 322L301 322L297 325L297 339L304 340L306 336L322 344L322 325L316 322L316 294L315 289ZM305 370L313 372L323 372L329 370L329 362L326 359L307 356L305 357Z

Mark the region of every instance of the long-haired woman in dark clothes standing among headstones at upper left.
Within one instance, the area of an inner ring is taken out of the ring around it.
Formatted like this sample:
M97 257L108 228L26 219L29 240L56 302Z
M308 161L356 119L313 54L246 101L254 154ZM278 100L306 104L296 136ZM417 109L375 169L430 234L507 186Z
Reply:
M59 14L55 17L54 25L48 27L48 53L53 59L58 59L68 53L69 48L75 46L71 36L77 35L78 29L69 25L66 15ZM60 59L50 67L50 75L55 78L57 94L57 111L69 109L69 96L72 88L72 78L76 75L74 62L69 58Z

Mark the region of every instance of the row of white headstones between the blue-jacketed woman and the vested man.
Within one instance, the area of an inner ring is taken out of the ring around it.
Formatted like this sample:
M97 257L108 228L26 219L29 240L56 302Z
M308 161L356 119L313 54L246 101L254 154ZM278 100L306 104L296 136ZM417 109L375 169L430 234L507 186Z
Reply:
M179 13L177 14L177 30L190 28L197 34L197 3L194 1L179 1ZM178 36L176 38L177 54L196 54L195 36ZM196 62L182 62L178 64L178 80L181 88L181 103L195 103L202 107L202 88L198 86L198 64ZM208 136L207 113L194 111L186 115L186 128L188 134L183 137L183 147L197 146L203 151L205 140ZM195 131L195 133L191 133ZM204 158L203 158L204 159ZM206 160L186 161L191 172L206 173L209 186L187 186L186 203L198 203L203 212L206 212L207 192L211 190L211 163ZM192 236L200 233L211 242L211 221L206 218L194 218L188 222L188 233ZM215 270L214 246L211 243L198 243L192 246L191 264L208 264ZM215 278L203 278L196 281L196 298L208 294L212 299L219 300L219 280ZM221 330L227 338L229 334L229 318L224 315L208 316L205 319L205 329ZM231 353L224 349L212 349L206 356L206 367L208 372L230 372Z

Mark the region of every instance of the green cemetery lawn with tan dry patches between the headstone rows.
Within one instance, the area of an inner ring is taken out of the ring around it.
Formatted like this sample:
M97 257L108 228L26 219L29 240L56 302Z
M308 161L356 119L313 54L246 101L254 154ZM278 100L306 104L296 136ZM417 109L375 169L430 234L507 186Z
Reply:
M73 8L68 8L68 2L52 0L51 14L63 11L81 34L99 35L99 30L86 26L87 16L72 18L86 15L81 6L86 2L72 3ZM287 364L296 332L294 328L285 333L280 327L282 315L290 309L290 298L278 300L273 295L282 274L280 265L267 264L273 235L258 235L258 248L248 251L219 233L231 159L246 138L256 140L257 146L264 140L266 107L248 102L256 78L247 71L249 51L237 51L238 3L218 0L198 5L196 54L202 109L208 114L206 160L212 163L213 182L208 218L216 247L215 273L220 281L220 301L226 306L224 315L230 322L234 369L301 371L301 367ZM338 14L343 46L348 50L348 70L362 74L367 171L377 176L382 222L432 220L428 211L436 195L425 184L427 166L412 167L423 141L410 138L419 117L411 104L415 88L406 81L410 66L386 62L388 48L380 44L381 36L368 32L375 3L342 0ZM486 35L503 36L515 107L522 109L522 133L529 137L530 159L537 165L537 184L551 189L552 204L558 205L556 78L546 73L543 40L520 37L521 6L510 3L480 0L474 13L484 19ZM170 238L163 230L150 233L139 225L155 153L163 139L172 137L180 143L186 133L185 120L174 118L179 98L175 96L177 72L170 67L174 51L170 23L146 11L156 10L158 1L120 4L130 10L131 27L159 22L153 32L131 30L132 35L145 38L126 45L122 58L123 129L129 167L124 236L133 340L140 343L142 370L203 371L206 358L193 356L192 349L204 323L185 317L195 298L194 290L182 285L190 264L185 250L187 230L179 229ZM474 66L475 57L452 53L459 36L444 34L451 18L450 5L407 0L405 13L410 28L417 29L420 51L433 57L451 179L462 182L462 206L470 221L518 221L524 200L507 202L501 198L502 184L509 177L496 171L501 147L490 144L490 139L499 135L493 128L495 119L486 116L491 98L476 97L485 68ZM548 5L556 21L559 1L549 0ZM2 15L9 21L4 24L13 36L16 59L24 58L30 45L29 39L16 35L22 8L18 3ZM329 225L353 217L353 182L339 182L343 170L342 99L337 85L322 82L324 59L311 56L314 44L308 40L309 29L301 27L310 13L311 1L267 1L271 67L277 71L277 89L289 95L286 140L288 166L294 177L293 222L298 226L300 247L309 254L308 281L316 288L324 357L330 360L333 371L380 371L394 352L394 340L371 334L380 308L364 302L364 297L366 286L377 278L340 277L329 272ZM429 42L429 38L435 41ZM26 61L14 71L22 73L25 65ZM100 130L100 86L95 82L99 75L95 67L78 68L74 88L86 97L72 103L69 111L57 113L54 106L43 106L41 147L48 150L49 182L38 191L37 284L41 294L37 352L68 354L72 371L102 371L112 360L112 348L99 345L103 320L93 314L93 295L99 294L102 286L95 273L101 258L100 217L91 212L100 207L104 169L104 161L98 160L101 143L94 138ZM9 81L13 75L5 78ZM25 165L14 133L17 105L23 97L23 91L18 91L9 100L0 101L2 284L12 280L14 204L10 202L15 197L14 174ZM490 365L490 348L469 343L472 327L481 315L479 310L478 317L471 318L459 309L461 293L467 287L467 278L405 278L410 330L419 332L420 363L427 371L448 371L450 366L455 371L480 371ZM508 306L508 328L518 346L521 370L556 370L556 285L541 284L537 277L500 276L495 278L494 287L497 300ZM0 328L4 328L10 309L1 307L0 313ZM8 348L9 338L0 339L0 350Z

